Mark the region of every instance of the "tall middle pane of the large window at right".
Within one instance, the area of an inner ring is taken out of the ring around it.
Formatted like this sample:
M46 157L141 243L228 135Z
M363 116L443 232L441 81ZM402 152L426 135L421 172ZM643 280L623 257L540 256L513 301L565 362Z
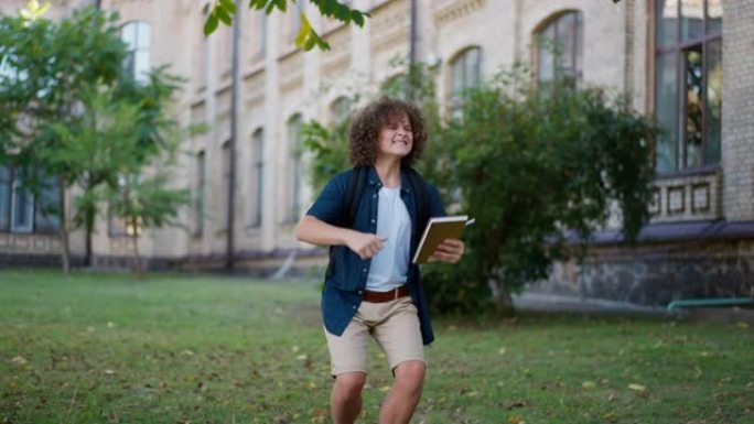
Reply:
M683 79L686 117L683 138L686 140L686 166L699 166L703 163L702 156L702 68L701 46L683 52Z

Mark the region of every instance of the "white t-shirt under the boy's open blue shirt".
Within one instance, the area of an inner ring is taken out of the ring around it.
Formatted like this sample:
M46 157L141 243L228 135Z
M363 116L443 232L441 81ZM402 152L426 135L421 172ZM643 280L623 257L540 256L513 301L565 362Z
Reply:
M387 237L383 250L371 258L366 289L388 292L406 284L411 246L411 217L400 188L379 189L377 236Z

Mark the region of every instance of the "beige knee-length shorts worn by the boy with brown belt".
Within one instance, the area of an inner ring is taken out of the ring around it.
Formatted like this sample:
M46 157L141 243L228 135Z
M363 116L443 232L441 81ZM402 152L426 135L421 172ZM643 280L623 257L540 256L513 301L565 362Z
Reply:
M367 373L369 335L385 352L390 369L408 360L424 360L417 307L410 296L385 303L362 302L342 336L325 329L332 374Z

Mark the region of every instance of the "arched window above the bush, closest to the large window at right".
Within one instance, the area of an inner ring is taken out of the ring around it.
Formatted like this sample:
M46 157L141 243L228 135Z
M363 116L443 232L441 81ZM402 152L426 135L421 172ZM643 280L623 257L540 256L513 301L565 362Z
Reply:
M578 81L582 76L583 19L581 12L559 14L536 33L536 69L539 83Z

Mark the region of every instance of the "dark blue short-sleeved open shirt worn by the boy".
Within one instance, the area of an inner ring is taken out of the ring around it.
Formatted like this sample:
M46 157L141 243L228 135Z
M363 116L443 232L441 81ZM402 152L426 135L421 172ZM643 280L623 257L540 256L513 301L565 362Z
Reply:
M322 191L314 205L306 211L316 219L331 225L338 225L341 214L345 209L344 198L348 182L354 171L349 170L335 175ZM424 183L429 195L430 217L445 216L440 193L432 185ZM364 194L356 209L356 217L352 229L362 232L376 233L377 231L377 193L383 187L383 183L374 167L369 167L367 183ZM400 175L400 198L406 204L409 216L411 217L411 228L416 228L417 220L417 198L411 193L411 185L406 172ZM410 257L416 253L419 237L411 236ZM325 281L322 293L322 316L327 331L341 336L348 326L351 319L356 315L358 306L364 297L367 275L371 259L362 259L346 246L336 246L334 251L333 273ZM419 323L421 325L421 336L424 345L429 345L434 339L432 325L427 305L427 296L421 285L419 265L410 263L406 285L413 304L419 311Z

